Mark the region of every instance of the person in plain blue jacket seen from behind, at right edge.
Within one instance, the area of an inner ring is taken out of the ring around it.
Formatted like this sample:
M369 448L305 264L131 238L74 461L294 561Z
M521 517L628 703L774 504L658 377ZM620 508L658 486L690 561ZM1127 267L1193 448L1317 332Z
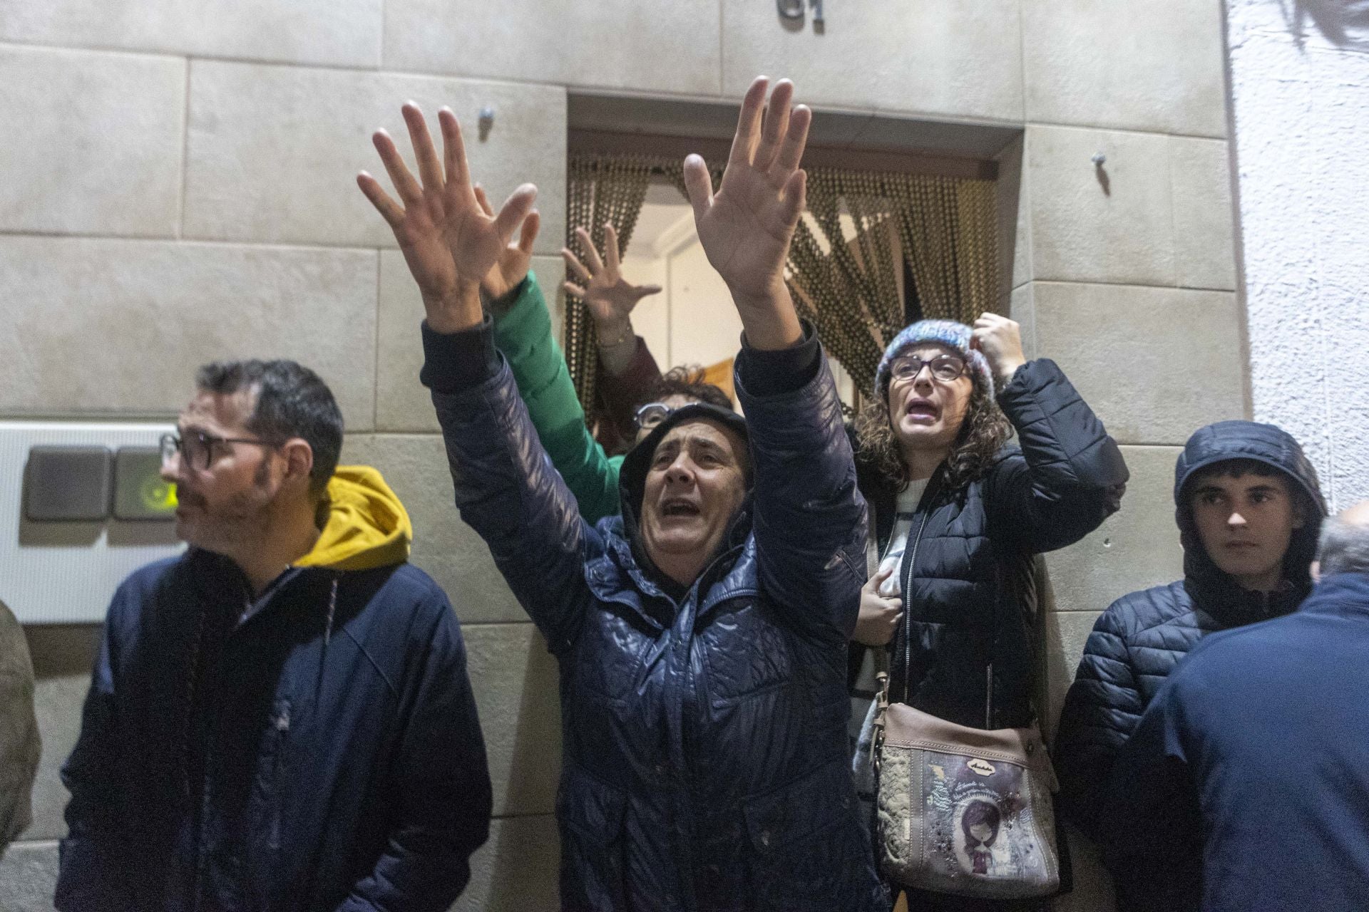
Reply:
M1327 520L1296 611L1203 637L1117 755L1103 857L1135 912L1369 897L1369 503Z

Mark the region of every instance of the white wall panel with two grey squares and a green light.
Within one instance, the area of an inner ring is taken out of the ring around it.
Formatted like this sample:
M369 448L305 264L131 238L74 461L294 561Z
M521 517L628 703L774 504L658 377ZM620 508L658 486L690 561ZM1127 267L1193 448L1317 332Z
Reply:
M119 582L179 554L170 423L0 421L0 602L22 623L104 619Z

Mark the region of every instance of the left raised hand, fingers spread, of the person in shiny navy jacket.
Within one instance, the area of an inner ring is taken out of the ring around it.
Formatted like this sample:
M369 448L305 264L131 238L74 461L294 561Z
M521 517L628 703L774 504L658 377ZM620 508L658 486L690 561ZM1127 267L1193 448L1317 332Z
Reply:
M471 187L461 127L452 109L438 112L445 163L438 160L423 112L412 101L404 105L404 123L422 183L413 179L389 133L378 130L372 137L404 205L394 202L366 171L356 182L394 231L423 294L428 325L438 332L455 332L481 321L481 280L498 263L513 228L533 209L537 187L522 185L497 216L487 215Z

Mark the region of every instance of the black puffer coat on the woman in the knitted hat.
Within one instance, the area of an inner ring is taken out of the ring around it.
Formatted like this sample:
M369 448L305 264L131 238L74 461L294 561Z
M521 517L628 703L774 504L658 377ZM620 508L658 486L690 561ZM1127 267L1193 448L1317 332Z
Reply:
M1032 555L1097 529L1128 477L1054 361L1021 366L998 403L1021 448L1005 447L960 489L941 473L928 483L899 570L905 623L890 644L890 700L988 729L1032 721ZM876 481L862 489L887 540L895 495Z

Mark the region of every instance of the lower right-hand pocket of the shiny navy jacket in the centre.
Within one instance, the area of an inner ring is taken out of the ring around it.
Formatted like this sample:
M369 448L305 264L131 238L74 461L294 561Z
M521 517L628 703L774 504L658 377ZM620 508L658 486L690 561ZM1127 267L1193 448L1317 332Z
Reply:
M750 859L749 908L765 912L887 908L843 760L747 799L743 815Z

